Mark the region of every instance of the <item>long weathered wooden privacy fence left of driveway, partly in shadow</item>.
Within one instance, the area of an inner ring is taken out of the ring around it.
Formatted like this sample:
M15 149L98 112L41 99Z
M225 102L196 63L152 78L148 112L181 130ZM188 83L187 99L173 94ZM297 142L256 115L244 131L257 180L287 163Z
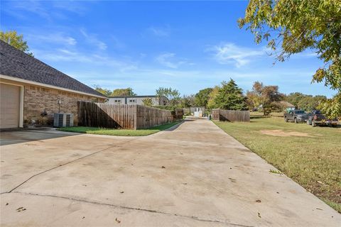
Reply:
M141 129L170 123L175 119L171 111L147 106L78 101L78 126Z

